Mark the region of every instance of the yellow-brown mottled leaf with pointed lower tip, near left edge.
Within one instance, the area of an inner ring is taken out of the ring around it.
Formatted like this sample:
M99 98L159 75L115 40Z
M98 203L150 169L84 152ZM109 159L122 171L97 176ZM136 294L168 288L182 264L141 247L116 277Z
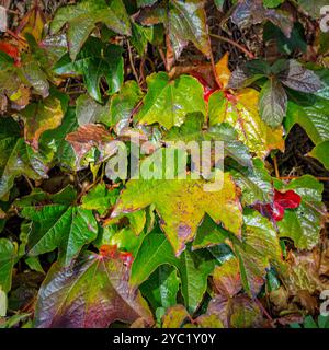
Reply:
M53 96L30 104L20 112L24 120L25 141L37 150L41 135L46 130L56 129L61 124L64 114L60 101Z

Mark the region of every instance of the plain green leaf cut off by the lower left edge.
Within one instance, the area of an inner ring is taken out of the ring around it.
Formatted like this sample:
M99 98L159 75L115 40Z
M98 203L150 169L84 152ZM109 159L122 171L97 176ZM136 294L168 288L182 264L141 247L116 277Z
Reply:
M0 291L9 292L11 289L12 269L16 253L14 245L7 238L0 238Z

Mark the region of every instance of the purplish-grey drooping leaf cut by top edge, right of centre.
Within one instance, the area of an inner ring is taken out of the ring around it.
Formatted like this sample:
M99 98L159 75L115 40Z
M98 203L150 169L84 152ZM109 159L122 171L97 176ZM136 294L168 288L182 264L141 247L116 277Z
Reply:
M291 36L293 19L288 12L266 9L262 0L242 0L235 8L231 20L240 28L271 21L287 36Z

